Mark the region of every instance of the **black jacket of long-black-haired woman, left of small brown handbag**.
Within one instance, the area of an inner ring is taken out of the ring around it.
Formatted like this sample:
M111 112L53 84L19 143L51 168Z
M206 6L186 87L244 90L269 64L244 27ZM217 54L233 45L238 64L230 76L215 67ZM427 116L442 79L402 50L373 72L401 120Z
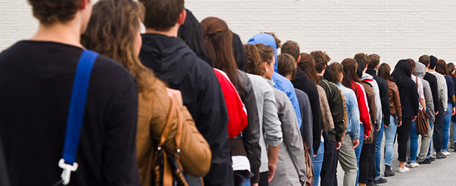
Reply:
M407 87L398 86L399 96L401 97L402 118L413 119L418 114L420 101L415 82L410 79Z

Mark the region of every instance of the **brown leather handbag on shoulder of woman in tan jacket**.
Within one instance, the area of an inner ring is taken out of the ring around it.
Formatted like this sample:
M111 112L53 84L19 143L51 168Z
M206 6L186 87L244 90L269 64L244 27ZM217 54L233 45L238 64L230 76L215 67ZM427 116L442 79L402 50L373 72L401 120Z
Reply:
M174 154L168 154L163 150L163 143L168 138L170 126L173 123L175 114L177 114L177 131L175 133L176 149ZM154 185L156 186L189 186L185 179L182 165L179 160L180 140L182 134L182 116L178 108L171 100L170 112L166 124L161 133L159 145L155 152L154 159Z

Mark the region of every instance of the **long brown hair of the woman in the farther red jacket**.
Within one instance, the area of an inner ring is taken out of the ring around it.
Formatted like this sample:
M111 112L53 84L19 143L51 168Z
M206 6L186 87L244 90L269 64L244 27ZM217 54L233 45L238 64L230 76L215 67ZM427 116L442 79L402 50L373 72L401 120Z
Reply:
M344 79L342 79L342 85L351 88L355 92L356 98L359 98L358 88L354 85L355 82L361 83L361 79L359 79L358 74L356 74L358 62L354 59L346 58L342 60L342 65L344 65L344 70L342 71Z

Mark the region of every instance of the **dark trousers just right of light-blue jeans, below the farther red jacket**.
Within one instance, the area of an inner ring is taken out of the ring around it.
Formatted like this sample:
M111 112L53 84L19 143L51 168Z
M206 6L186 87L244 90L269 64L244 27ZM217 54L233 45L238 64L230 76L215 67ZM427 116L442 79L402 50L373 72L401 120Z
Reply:
M375 147L375 143L363 143L361 156L359 157L359 183L368 183L370 161L374 160L374 154L370 154L372 146Z

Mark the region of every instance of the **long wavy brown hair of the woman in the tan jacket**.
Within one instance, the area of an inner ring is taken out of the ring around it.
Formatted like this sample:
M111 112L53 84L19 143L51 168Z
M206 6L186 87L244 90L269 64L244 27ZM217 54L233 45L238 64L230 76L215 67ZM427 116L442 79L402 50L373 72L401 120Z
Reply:
M140 62L135 53L135 41L144 18L144 8L133 0L100 0L93 6L92 17L86 32L81 35L81 44L88 49L119 62L133 74L138 82L138 91L152 88L147 79L154 78L152 70Z

